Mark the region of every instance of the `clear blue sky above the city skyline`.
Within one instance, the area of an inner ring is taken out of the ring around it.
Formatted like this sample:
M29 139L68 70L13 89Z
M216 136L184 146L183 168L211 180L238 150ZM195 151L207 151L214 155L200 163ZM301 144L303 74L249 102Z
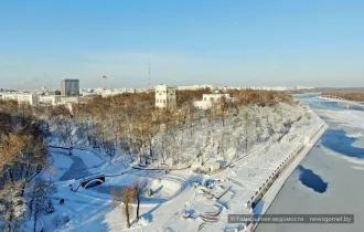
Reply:
M364 86L364 1L1 1L0 87ZM101 75L109 78L103 83Z

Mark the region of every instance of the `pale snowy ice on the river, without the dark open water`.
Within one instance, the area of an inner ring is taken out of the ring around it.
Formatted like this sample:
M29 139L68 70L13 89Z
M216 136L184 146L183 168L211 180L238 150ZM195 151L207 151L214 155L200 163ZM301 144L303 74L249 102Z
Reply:
M319 103L318 103L319 104ZM314 109L329 124L329 129L343 130L346 136L356 137L363 130L364 112L335 109ZM363 137L356 137L363 143ZM323 139L322 139L323 141ZM355 214L355 219L363 218L363 159L349 157L345 151L341 154L325 147L323 143L318 143L304 158L301 165L312 170L328 183L328 189L323 193L307 188L298 181L299 171L291 175L279 194L270 205L269 214L306 214L306 213L328 213L328 212L350 212ZM354 144L353 144L354 145ZM340 146L340 145L338 145ZM363 148L363 146L360 146ZM356 220L350 225L338 224L269 224L263 223L258 226L259 232L281 232L281 231L355 231L362 232L363 220Z

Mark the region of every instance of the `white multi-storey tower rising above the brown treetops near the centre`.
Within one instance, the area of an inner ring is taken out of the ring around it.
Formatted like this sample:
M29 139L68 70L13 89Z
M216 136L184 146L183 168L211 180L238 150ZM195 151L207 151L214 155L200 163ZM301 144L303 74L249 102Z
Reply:
M156 86L156 107L163 109L175 109L176 99L175 99L175 89L174 86L168 85L157 85Z

